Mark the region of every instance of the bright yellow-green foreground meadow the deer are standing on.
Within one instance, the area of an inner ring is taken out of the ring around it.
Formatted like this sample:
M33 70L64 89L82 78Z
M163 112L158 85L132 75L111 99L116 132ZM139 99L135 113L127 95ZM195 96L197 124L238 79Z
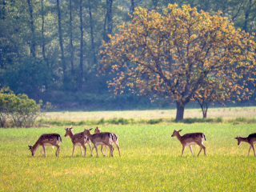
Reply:
M74 128L74 133L85 127ZM122 157L114 146L114 158L99 154L82 157L78 147L72 154L70 138L64 127L0 129L0 191L254 191L256 158L249 145L234 139L255 132L253 124L170 123L169 125L102 126L102 131L118 134ZM181 134L206 134L206 156L194 157L186 147L171 138ZM34 157L28 145L41 134L62 135L59 157L47 146L47 157ZM99 150L100 147L98 147ZM109 154L109 150L108 150Z

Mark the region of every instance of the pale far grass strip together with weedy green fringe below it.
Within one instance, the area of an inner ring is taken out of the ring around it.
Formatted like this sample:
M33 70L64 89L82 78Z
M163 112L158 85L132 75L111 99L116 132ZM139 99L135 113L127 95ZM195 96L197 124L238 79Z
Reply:
M95 126L137 125L175 122L176 110L130 110L93 112L50 112L38 118L38 126ZM184 123L230 122L256 123L256 107L210 108L208 118L202 118L201 109L185 110Z

